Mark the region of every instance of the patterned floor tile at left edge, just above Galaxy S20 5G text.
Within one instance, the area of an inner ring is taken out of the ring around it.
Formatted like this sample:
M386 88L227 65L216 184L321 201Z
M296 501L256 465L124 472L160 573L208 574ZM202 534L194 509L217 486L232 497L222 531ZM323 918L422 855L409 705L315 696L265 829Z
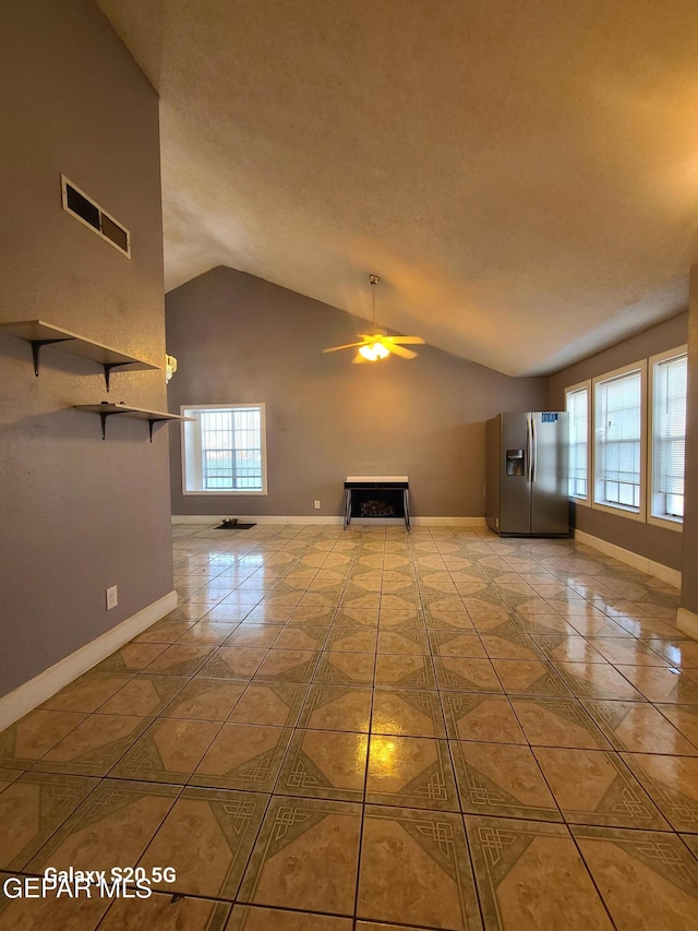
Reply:
M73 813L97 779L24 773L0 795L0 867L21 870Z

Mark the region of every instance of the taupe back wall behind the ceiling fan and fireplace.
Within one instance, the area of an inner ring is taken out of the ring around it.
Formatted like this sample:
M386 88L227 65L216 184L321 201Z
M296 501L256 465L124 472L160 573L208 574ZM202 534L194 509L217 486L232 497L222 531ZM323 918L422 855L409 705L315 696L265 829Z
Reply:
M411 361L351 365L365 322L218 267L166 298L168 351L183 404L265 402L268 496L182 496L171 433L173 514L338 515L347 475L409 475L416 516L482 516L485 420L538 409L546 379L510 379L430 346ZM313 501L320 499L320 511Z

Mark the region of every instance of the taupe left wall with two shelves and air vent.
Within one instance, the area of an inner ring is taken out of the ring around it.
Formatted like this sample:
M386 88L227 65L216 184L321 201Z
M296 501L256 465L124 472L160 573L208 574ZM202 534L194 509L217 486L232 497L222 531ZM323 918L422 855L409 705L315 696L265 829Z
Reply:
M41 318L161 362L157 97L88 0L0 5L4 184L0 321ZM133 258L61 210L60 174L130 228ZM167 428L73 404L108 397L93 363L0 335L4 694L172 588ZM113 401L163 409L159 372ZM107 613L105 588L118 585Z

